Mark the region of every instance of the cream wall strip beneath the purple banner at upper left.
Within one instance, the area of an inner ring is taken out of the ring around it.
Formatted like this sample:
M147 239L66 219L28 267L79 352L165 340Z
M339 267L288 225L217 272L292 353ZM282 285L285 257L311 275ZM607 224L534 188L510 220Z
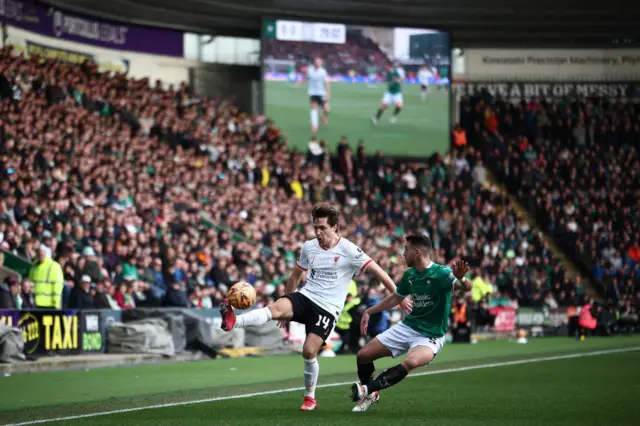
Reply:
M180 84L189 81L189 69L198 66L198 61L162 55L122 52L26 31L14 26L6 27L5 44L17 52L27 55L57 58L65 62L82 63L90 58L102 71L127 72L135 79L149 78L151 82L162 80L165 84Z

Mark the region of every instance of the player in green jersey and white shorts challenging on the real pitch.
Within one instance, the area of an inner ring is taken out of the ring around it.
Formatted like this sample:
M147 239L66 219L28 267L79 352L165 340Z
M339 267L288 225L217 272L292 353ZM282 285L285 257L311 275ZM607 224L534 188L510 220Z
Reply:
M366 411L380 399L378 391L398 384L411 370L429 364L444 346L449 327L451 294L454 290L467 292L471 282L465 278L469 265L463 260L454 263L453 270L431 261L431 240L424 235L406 238L404 258L409 267L396 293L367 309L360 323L367 334L369 317L397 306L405 297L413 299L413 310L404 321L394 325L371 340L358 352L359 382L351 386L352 400L359 401L353 411ZM400 364L373 378L377 359L393 358L407 353Z

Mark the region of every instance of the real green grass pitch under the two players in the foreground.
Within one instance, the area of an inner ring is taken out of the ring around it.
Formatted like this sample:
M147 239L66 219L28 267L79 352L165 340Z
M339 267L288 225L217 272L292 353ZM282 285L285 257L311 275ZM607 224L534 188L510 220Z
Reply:
M366 413L351 412L352 356L320 359L319 407L300 412L302 364L291 355L3 377L0 424L637 424L639 337L446 345Z

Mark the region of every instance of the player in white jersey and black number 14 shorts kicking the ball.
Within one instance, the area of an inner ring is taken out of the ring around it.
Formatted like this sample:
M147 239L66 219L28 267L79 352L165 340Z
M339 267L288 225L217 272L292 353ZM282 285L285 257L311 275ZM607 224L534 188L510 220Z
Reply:
M266 324L272 320L304 324L306 338L302 348L304 358L303 411L315 410L318 383L318 352L331 335L336 320L344 307L351 279L367 270L389 291L395 292L395 284L389 275L366 253L338 232L339 212L336 208L321 204L313 209L313 227L316 238L306 241L300 251L296 268L287 281L286 295L274 304L236 316L228 299L220 305L222 329ZM306 284L296 291L303 275ZM412 302L403 302L405 312Z

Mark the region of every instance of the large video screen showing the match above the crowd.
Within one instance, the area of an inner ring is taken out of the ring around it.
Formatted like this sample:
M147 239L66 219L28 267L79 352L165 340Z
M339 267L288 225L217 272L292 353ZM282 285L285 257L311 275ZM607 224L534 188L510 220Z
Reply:
M265 20L264 111L291 146L364 141L375 154L449 147L449 34L418 28Z

